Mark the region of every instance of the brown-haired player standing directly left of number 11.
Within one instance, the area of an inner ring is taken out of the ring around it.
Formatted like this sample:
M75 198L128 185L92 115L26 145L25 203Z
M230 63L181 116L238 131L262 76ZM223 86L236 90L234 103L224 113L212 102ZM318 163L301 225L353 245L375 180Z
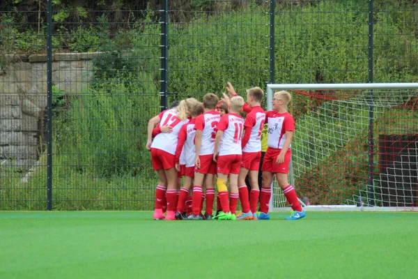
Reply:
M201 199L203 180L206 184L206 211L205 220L212 220L213 201L215 199L216 163L212 160L215 151L215 135L219 123L219 112L216 107L219 98L213 93L203 96L204 113L196 117L194 129L196 130L194 160L194 187L192 197L192 214L185 220L203 220L201 216Z

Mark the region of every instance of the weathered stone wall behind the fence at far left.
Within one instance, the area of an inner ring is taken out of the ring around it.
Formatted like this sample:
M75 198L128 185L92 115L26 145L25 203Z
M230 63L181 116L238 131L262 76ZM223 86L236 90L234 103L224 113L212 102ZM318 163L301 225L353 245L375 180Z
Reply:
M86 91L98 52L56 53L52 83L66 94ZM45 148L47 56L7 56L0 72L0 170L29 169ZM42 143L43 142L43 143Z

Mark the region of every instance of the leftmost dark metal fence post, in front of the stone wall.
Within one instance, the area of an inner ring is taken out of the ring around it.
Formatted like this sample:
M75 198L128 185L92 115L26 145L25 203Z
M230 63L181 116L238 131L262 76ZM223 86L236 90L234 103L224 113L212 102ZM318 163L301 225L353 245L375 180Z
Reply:
M47 210L52 210L52 0L47 0Z

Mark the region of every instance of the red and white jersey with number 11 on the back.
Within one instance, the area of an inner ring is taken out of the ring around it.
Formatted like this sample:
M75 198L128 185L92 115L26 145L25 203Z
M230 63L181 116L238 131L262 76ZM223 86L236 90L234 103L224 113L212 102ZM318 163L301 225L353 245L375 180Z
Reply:
M241 135L244 127L244 119L238 114L224 114L219 121L217 130L222 130L222 144L219 148L219 156L242 154Z

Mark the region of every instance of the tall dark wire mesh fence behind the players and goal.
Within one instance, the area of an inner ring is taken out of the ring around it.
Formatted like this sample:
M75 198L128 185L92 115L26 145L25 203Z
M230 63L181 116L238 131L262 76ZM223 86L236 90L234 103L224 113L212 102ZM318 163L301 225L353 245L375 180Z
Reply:
M227 81L418 80L417 1L110 2L3 1L0 209L152 209L148 119Z

